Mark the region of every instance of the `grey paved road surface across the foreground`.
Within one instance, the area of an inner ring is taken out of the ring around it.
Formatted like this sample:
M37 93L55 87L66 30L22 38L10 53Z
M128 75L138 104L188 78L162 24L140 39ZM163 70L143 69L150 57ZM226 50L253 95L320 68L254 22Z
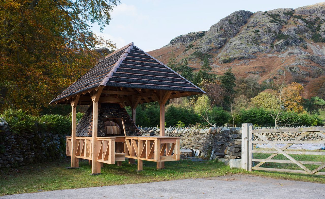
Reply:
M325 198L325 184L249 175L173 180L2 196L0 199L222 199Z

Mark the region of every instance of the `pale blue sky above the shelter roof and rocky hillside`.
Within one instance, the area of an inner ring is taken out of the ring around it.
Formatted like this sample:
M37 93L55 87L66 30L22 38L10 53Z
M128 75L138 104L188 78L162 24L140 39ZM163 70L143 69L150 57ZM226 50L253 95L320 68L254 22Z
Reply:
M134 44L144 51L167 45L173 38L193 31L207 31L220 19L237 10L251 12L297 8L319 3L314 0L121 0L111 12L110 24L92 30L121 48Z

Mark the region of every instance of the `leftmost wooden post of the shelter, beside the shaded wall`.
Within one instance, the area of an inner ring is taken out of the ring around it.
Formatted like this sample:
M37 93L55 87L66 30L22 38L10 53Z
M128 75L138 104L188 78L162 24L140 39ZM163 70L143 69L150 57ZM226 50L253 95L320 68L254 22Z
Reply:
M71 168L79 167L79 158L76 158L76 114L79 96L76 96L71 103L72 117L71 117Z

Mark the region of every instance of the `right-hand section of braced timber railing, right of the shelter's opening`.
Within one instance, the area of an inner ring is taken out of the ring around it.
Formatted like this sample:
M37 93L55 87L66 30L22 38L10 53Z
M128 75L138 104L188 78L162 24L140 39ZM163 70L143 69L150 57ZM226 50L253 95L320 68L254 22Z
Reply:
M125 157L138 160L138 170L142 161L165 162L179 160L179 138L162 136L125 137Z

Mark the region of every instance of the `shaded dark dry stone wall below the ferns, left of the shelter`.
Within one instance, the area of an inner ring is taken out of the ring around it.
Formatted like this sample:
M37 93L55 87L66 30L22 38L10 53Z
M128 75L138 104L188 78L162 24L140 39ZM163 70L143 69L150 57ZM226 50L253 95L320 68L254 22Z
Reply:
M0 118L0 168L23 166L65 157L66 135L50 132L10 131Z

